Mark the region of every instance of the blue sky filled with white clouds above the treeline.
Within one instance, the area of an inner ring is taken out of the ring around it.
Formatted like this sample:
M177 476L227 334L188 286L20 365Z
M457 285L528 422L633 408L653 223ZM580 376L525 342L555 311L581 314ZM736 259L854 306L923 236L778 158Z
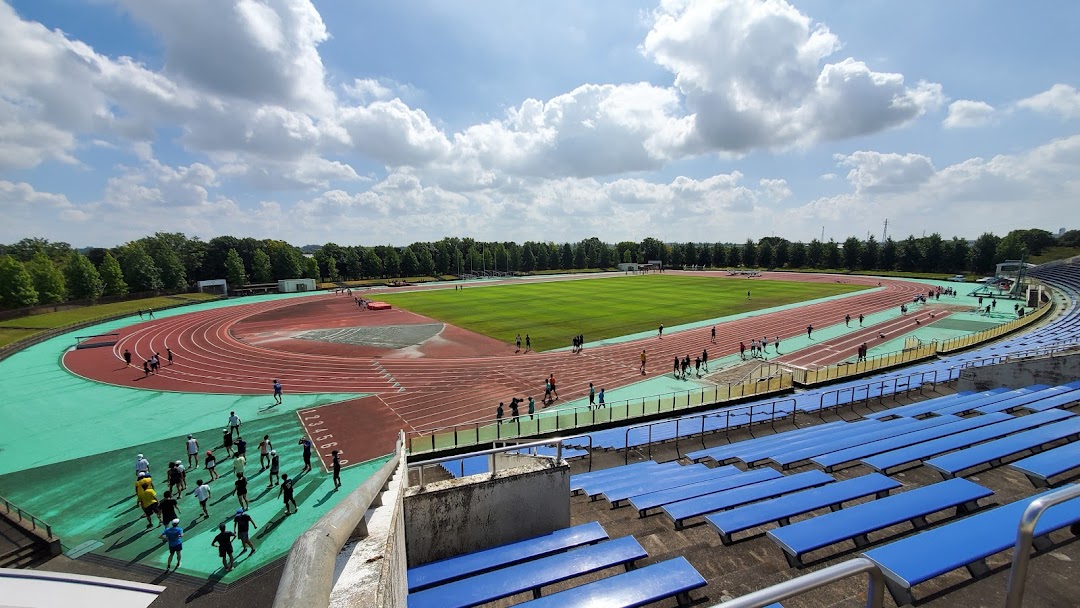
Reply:
M1078 228L1080 2L0 0L0 243Z

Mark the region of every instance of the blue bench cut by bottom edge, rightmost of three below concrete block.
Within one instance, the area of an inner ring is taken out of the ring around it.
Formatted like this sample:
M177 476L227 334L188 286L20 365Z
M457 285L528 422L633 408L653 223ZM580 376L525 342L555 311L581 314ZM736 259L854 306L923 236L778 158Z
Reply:
M549 596L518 604L529 608L564 608L565 606L604 606L604 608L632 608L678 598L680 606L690 603L689 594L707 583L698 570L686 560L675 557L658 564L635 568L629 572L600 579L580 586L553 593Z

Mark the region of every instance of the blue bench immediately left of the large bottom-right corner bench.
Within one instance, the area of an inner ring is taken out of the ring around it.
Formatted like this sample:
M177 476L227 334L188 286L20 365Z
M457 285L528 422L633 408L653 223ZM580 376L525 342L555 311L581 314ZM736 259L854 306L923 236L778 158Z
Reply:
M865 546L869 532L902 522L910 522L918 529L926 526L926 516L931 513L954 506L972 511L978 499L993 494L968 479L949 479L769 530L768 536L784 551L793 568L801 568L802 555L811 551L846 540Z

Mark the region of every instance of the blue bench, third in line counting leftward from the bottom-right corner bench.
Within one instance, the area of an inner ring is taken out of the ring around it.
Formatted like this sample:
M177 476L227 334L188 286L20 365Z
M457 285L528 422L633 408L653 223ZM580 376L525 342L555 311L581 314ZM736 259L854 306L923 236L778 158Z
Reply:
M731 535L779 522L781 526L791 523L796 515L828 506L837 511L839 506L856 498L874 495L889 496L890 490L901 487L900 482L880 473L845 479L835 484L797 491L771 500L762 500L730 511L706 515L705 521L720 533L720 542L731 544Z

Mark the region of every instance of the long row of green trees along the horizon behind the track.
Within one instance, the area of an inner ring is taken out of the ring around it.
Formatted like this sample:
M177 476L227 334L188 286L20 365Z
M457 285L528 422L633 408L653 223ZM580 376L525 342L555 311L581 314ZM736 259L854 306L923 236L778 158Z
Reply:
M226 279L230 285L281 279L348 281L375 278L456 275L483 270L537 272L613 268L619 262L660 260L667 267L809 268L988 272L1003 259L1038 255L1053 245L1080 246L1080 231L1055 239L1045 230L1014 230L1003 238L985 233L974 242L941 234L903 241L854 237L842 243L809 243L777 237L743 244L642 242L481 242L447 238L407 247L307 245L284 241L217 237L202 241L158 232L111 249L76 251L67 243L24 239L0 245L0 308L66 300L95 300L129 293L183 292L195 281Z

